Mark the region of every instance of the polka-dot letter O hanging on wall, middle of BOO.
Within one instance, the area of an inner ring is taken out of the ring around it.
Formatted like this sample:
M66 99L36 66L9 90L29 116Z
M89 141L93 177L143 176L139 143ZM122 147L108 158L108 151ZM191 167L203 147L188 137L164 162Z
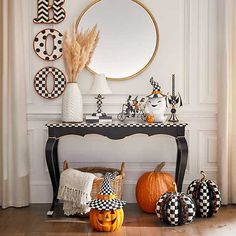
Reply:
M47 52L47 40L51 36L53 39L52 52ZM62 56L63 35L55 29L44 29L34 38L33 47L35 53L43 60L55 61Z

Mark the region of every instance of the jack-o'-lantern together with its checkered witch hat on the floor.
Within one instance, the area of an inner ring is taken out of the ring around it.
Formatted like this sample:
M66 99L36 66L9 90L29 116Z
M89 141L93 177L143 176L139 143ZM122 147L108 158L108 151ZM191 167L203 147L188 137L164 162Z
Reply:
M117 199L110 184L110 178L114 179L116 174L106 173L97 198L87 203L91 207L90 225L97 231L115 231L123 223L126 202Z

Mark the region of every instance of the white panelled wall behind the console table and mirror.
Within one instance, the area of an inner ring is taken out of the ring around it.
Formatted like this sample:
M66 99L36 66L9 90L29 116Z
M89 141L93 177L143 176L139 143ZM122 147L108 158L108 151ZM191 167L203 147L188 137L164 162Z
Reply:
M28 42L25 45L28 73L25 79L28 84L31 202L50 202L52 190L44 155L47 139L45 124L60 120L61 98L52 101L38 96L33 88L33 79L37 71L44 66L55 65L63 70L63 64L62 59L53 63L44 62L34 53L31 45L35 35L44 28L52 27L64 32L91 1L67 0L64 4L67 13L65 21L52 26L32 23L32 19L36 17L36 2L36 0L26 1L24 19L26 22L24 33L28 35ZM186 131L189 162L184 187L199 177L200 170L205 170L209 178L216 180L218 1L142 0L142 2L151 10L158 23L160 43L157 56L151 66L138 77L122 82L109 81L113 94L106 96L104 111L116 115L127 95L148 94L151 91L149 85L151 76L161 84L163 92L170 91L171 74L175 73L177 90L184 99L184 107L178 111L179 117L189 124ZM84 94L85 113L95 110L93 97L86 94L91 82L92 75L86 71L78 80ZM175 169L174 140L165 136L162 138L143 136L133 136L120 142L96 135L85 139L76 137L62 140L59 146L60 160L69 159L73 165L79 166L117 167L120 161L124 160L127 162L124 198L134 202L135 183L141 173L152 170L156 162L163 160L167 162L167 171L174 173ZM100 153L99 156L95 150L99 150L97 152ZM86 163L85 160L89 161Z

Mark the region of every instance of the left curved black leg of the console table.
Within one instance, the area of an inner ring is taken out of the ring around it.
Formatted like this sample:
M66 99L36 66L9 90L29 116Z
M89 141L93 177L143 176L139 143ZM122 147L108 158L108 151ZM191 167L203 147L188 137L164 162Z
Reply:
M50 175L50 179L53 187L53 200L50 210L47 212L48 216L52 216L54 212L54 207L57 204L57 193L59 188L60 181L60 171L58 165L58 155L57 155L57 146L58 146L57 138L48 138L46 144L46 161L48 166L48 171Z

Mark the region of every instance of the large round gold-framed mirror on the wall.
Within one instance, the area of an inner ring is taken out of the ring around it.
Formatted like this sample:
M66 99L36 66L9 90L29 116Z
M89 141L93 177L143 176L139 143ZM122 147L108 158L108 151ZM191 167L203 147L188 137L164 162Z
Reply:
M152 62L158 48L158 27L151 12L137 0L97 0L77 20L77 30L97 24L100 39L88 65L108 79L130 79Z

